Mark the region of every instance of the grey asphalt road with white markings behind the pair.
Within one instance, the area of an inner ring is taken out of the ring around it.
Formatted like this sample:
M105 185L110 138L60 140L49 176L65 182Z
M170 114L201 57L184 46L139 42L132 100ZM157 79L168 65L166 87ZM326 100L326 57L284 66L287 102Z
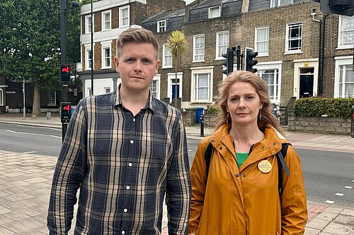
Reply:
M190 166L199 141L188 138ZM57 157L61 144L62 131L59 128L0 123L0 150ZM354 207L353 152L295 150L301 159L307 200Z

